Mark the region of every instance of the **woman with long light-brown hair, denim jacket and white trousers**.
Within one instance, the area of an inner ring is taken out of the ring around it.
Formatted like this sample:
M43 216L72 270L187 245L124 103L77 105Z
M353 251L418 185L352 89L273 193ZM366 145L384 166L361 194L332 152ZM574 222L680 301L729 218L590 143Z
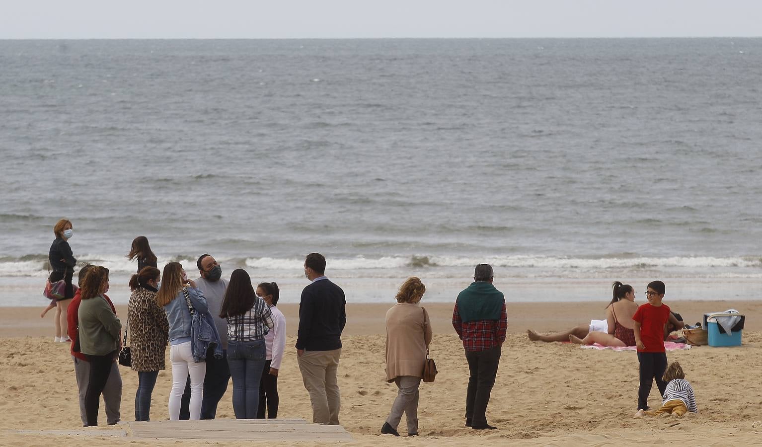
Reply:
M185 294L187 293L187 299ZM193 316L187 302L195 312L209 311L207 299L193 279L188 279L178 262L168 263L162 273L162 286L156 292L156 302L164 306L169 322L169 361L172 363L172 389L169 391L169 420L180 419L180 407L185 382L191 375L191 402L188 404L191 420L201 419L203 378L207 375L207 362L197 361L193 355L191 323Z

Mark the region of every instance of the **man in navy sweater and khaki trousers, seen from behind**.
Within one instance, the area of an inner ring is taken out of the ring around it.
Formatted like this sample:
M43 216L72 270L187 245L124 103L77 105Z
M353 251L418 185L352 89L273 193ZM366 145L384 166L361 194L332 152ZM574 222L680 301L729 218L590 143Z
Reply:
M325 277L325 257L310 253L304 275L312 281L299 302L296 359L312 403L312 422L338 425L341 395L336 371L341 356L341 331L347 324L347 300L341 287Z

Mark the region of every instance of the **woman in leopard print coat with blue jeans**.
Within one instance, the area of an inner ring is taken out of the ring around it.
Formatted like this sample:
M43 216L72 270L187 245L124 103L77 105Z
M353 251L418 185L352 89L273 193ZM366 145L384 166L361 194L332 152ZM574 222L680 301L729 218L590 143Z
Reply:
M135 394L135 420L149 420L151 394L161 369L165 369L169 323L167 314L156 302L161 272L143 267L130 279L130 304L127 305L127 330L130 332L131 368L138 372Z

